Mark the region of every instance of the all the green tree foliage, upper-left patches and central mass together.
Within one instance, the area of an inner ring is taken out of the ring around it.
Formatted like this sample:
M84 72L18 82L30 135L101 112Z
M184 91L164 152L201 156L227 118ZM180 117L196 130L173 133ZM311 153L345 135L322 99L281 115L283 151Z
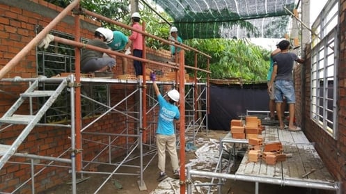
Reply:
M58 6L67 6L69 0L50 0L49 2L55 3ZM156 11L155 4L151 5ZM81 7L91 10L95 13L109 17L111 19L129 24L129 1L116 1L116 0L82 0ZM168 39L170 24L164 22L164 19L173 24L173 19L164 12L159 13L159 17L154 11L150 10L148 6L140 6L142 20L146 22L146 31L152 35L160 38ZM283 26L286 19L283 18L281 22L275 24L276 26ZM239 21L234 22L249 33L257 34L254 26L249 22ZM110 29L122 31L129 35L130 31L127 29L119 28L112 24L103 23ZM192 25L192 24L191 24ZM274 24L271 24L274 25ZM179 26L178 26L179 30ZM239 77L246 81L266 81L267 71L269 70L269 51L253 45L247 39L190 39L183 40L185 45L194 47L204 53L212 56L210 60L210 70L212 71L211 77L213 79L225 79L230 77ZM147 47L153 49L169 49L169 45L153 38L146 38ZM185 63L194 66L194 51L187 51L185 56ZM207 68L207 58L198 55L198 67ZM187 70L192 73L192 70ZM203 72L198 72L198 77L206 77Z

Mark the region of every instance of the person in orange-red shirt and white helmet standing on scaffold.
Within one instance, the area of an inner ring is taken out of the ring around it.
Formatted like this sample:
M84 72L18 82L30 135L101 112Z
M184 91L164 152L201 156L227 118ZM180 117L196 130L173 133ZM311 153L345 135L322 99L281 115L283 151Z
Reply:
M135 12L131 15L131 20L132 20L132 28L138 29L140 31L143 30L141 24L139 24L141 20L141 15L139 15L138 12ZM126 49L132 45L132 54L133 56L142 57L143 54L143 35L139 32L132 31L132 34L129 36L129 42L126 45ZM142 62L139 60L134 60L134 72L136 76L143 75L143 70L142 70Z

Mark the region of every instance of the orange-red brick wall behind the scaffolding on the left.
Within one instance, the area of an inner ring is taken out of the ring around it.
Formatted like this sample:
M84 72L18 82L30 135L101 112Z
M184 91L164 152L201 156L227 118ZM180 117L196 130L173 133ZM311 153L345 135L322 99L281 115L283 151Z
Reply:
M60 13L62 8L54 6L46 1L42 0L28 0L28 1L8 1L0 0L0 68L2 68L8 61L10 61L15 54L17 54L25 45L34 38L36 35L36 25L47 26L49 22ZM93 30L100 26L100 23L92 21L86 17L81 16L81 37L93 38ZM54 30L61 31L63 33L73 34L74 32L74 18L72 15L65 17ZM155 49L147 49L147 54L158 58L169 58L169 51L156 51ZM147 64L147 67L152 69L164 70L164 72L171 71L170 68L159 68L152 64ZM121 71L122 60L117 59L117 72ZM128 61L129 72L134 72L132 60ZM6 77L13 78L14 76L21 76L23 78L36 77L36 50L33 49L27 56L17 64L17 66L10 70ZM10 106L17 100L19 93L26 89L26 86L22 86L19 83L0 83L1 90L10 91L13 95L8 95L0 92L0 115L5 113ZM127 90L127 93L124 90ZM136 90L136 86L111 86L112 102L119 102L124 99L127 94ZM128 99L128 105L133 106L135 102L138 102L136 97ZM148 117L148 120L152 120L152 117ZM88 124L93 121L93 118L84 119L83 123ZM87 131L91 132L104 132L104 133L120 133L125 129L125 124L128 124L130 129L135 129L136 122L134 120L127 120L124 115L117 113L110 113L105 115L101 120L95 122ZM1 131L0 143L10 145L13 140L22 131L23 126L15 126ZM135 130L130 133L136 133ZM24 140L19 147L18 152L28 154L38 154L42 156L57 157L70 147L70 129L64 127L35 127L31 134ZM108 143L108 136L92 136L85 134L83 136L83 159L91 160L96 154L99 154L100 150L104 148L104 145L98 143ZM92 141L90 141L92 140ZM113 145L121 146L127 143L126 138L118 138ZM134 138L129 138L129 143L132 143ZM113 156L120 156L124 154L124 149L112 149ZM67 152L61 156L62 158L69 159L70 152ZM10 161L26 162L29 163L30 159L21 157L12 157ZM108 161L107 152L100 156L97 161ZM47 164L49 161L36 161L39 163ZM54 163L54 165L69 164ZM70 174L67 168L48 167L44 165L37 165L35 172L42 170L40 174L35 177L35 189L36 193L47 190L61 184L70 179ZM95 170L95 165L88 166L85 170ZM44 170L43 170L44 169ZM0 193L12 192L29 179L30 165L16 163L6 163L6 165L0 170ZM20 190L20 193L31 193L31 182L26 184L24 188Z

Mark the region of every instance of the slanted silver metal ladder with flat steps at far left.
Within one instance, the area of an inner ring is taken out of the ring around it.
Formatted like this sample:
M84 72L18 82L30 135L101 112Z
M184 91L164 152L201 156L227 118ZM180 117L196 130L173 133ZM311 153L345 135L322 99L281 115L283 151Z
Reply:
M22 144L24 139L30 134L33 127L38 124L42 116L45 115L46 111L52 106L58 96L61 94L64 88L68 85L67 79L62 79L56 90L37 90L39 79L33 81L29 88L22 94L19 99L8 109L8 111L0 118L0 124L24 124L26 127L22 133L15 139L12 145L0 144L0 170L3 165L10 159L13 154L17 151L18 147ZM36 115L32 115L32 108L30 108L31 115L17 115L15 111L21 106L26 99L30 101L30 107L32 107L33 97L49 97L45 104L38 110Z

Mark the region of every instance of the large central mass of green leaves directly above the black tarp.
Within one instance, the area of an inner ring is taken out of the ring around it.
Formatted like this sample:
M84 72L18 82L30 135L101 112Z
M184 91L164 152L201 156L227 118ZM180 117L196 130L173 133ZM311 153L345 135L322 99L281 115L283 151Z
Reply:
M239 77L246 81L266 81L269 70L269 51L253 45L249 40L187 40L186 45L198 48L212 56L210 70L212 79ZM187 52L185 62L194 64L193 53ZM198 58L200 68L206 68ZM203 76L206 76L203 74Z

